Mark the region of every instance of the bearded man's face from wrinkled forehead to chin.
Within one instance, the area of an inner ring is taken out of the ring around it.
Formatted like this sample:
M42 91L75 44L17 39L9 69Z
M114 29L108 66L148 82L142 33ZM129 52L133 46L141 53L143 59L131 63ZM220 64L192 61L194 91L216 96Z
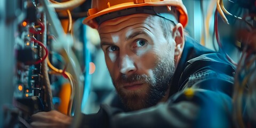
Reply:
M108 20L98 31L110 76L127 109L154 106L167 97L175 42L164 37L157 16Z

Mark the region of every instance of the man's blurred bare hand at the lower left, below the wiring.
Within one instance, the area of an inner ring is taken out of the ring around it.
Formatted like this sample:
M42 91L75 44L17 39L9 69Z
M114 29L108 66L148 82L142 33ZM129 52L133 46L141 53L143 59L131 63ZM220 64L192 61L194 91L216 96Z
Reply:
M69 127L72 122L72 117L64 115L59 111L40 112L32 115L33 127Z

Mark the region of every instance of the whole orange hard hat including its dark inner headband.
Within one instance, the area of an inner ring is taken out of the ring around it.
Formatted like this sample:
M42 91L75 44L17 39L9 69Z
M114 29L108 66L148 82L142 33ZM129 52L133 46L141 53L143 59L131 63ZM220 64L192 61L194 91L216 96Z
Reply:
M148 6L153 6L153 8L151 8L153 11L147 10ZM159 12L157 6L165 6L163 7L165 8L165 11ZM188 14L182 0L92 0L92 8L89 9L88 17L84 19L83 23L92 28L98 28L99 23L102 23L103 21L116 18L118 15L121 17L135 13L155 14L175 22L171 14L166 13L168 7L171 6L175 7L175 10L179 12L178 22L185 27L188 23ZM142 7L143 12L138 11L141 9L140 7Z

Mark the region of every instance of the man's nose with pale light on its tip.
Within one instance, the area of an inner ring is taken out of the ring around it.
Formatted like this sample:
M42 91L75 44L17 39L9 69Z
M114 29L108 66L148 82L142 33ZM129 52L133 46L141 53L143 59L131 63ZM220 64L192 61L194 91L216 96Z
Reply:
M128 55L124 55L124 57L121 58L119 67L120 67L120 73L125 75L132 74L134 71L136 71L134 61Z

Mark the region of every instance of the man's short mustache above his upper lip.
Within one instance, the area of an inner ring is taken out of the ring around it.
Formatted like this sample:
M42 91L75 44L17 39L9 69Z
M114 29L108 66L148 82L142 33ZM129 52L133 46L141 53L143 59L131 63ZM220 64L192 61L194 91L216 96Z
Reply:
M146 74L132 74L130 76L122 74L116 79L115 85L135 82L150 83L150 77Z

